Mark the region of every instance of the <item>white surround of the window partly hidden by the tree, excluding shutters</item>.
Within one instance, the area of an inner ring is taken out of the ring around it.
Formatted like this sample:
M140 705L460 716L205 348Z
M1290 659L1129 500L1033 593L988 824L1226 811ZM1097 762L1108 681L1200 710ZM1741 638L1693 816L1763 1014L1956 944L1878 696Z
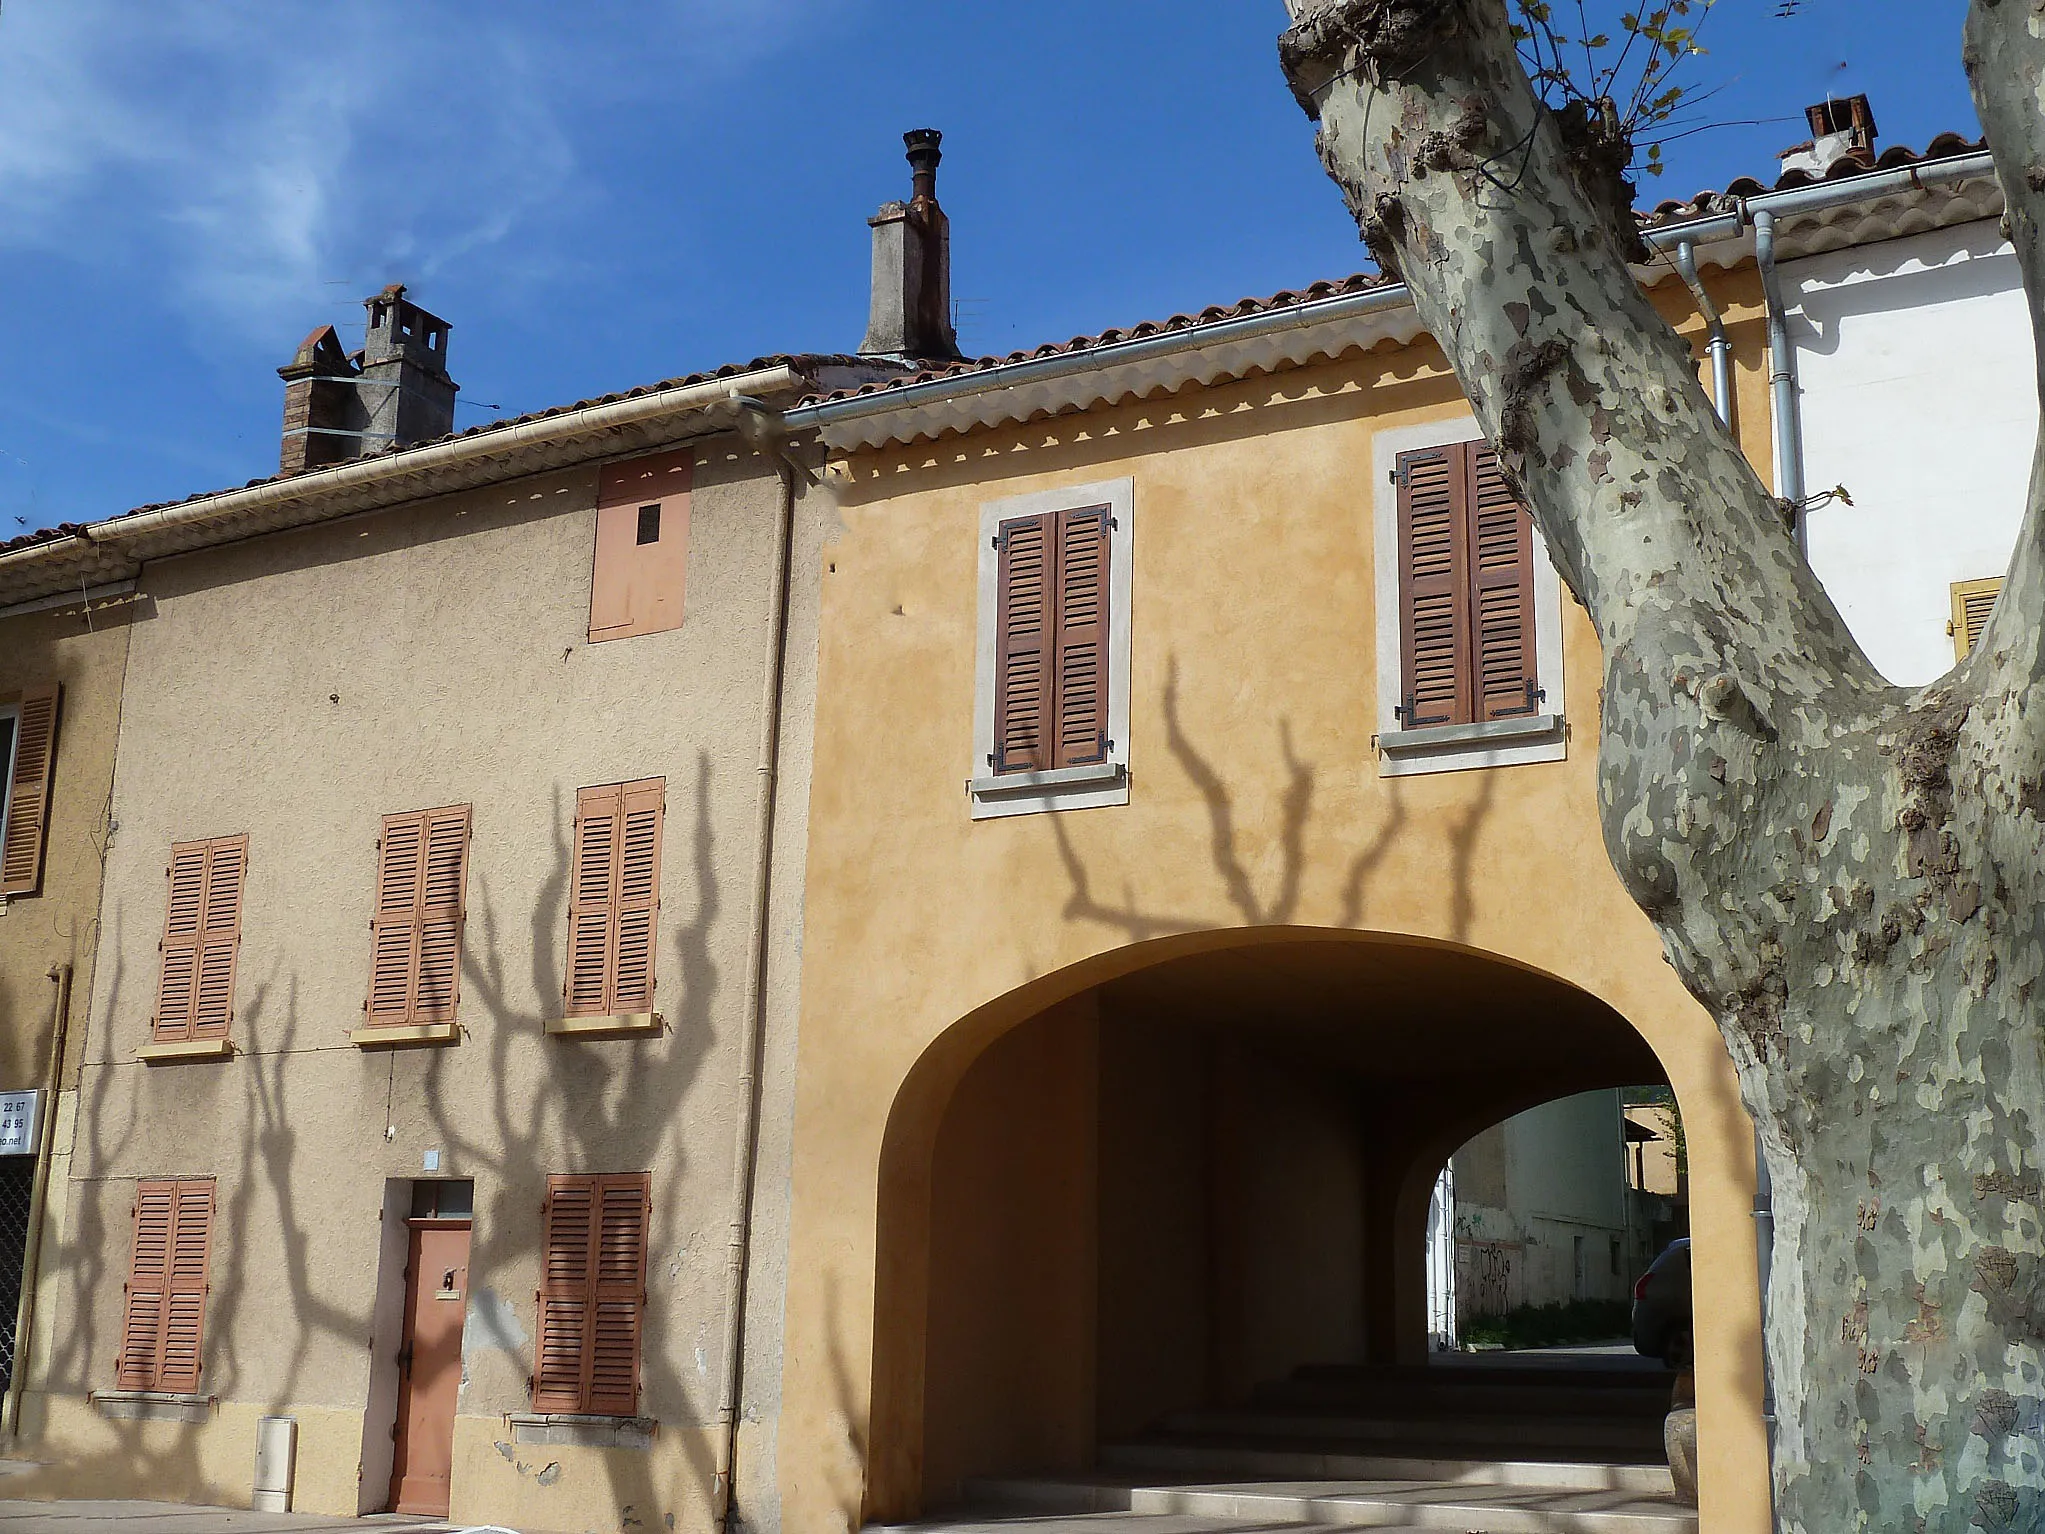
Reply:
M1474 442L1483 432L1474 415L1399 425L1370 438L1372 565L1376 567L1378 642L1378 775L1415 777L1472 767L1517 767L1562 761L1569 755L1569 710L1562 697L1562 577L1548 558L1548 544L1534 528L1534 673L1546 693L1542 712L1483 724L1436 724L1407 730L1399 720L1405 695L1401 677L1405 640L1399 632L1399 454Z

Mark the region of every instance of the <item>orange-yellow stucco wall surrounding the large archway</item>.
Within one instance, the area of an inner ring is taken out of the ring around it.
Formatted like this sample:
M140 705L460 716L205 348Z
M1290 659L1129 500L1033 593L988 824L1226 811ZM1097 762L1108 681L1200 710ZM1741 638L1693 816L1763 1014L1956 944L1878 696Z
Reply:
M1748 278L1724 286L1761 460L1759 311ZM1673 292L1656 299L1679 313ZM973 1055L1059 996L1147 963L1155 949L1139 943L1223 945L1272 927L1503 955L1640 1031L1683 1104L1697 1284L1716 1297L1697 1321L1703 1526L1767 1526L1753 1131L1712 1021L1603 855L1599 655L1583 614L1564 603L1566 761L1387 779L1370 749L1372 436L1462 411L1432 348L1387 346L843 466L808 871L779 1454L789 1528L849 1528L918 1501L926 1319L896 1299L920 1291L879 1231L890 1209L928 1203L916 1147L935 1143ZM1135 481L1131 802L973 822L961 783L980 507L1123 475Z

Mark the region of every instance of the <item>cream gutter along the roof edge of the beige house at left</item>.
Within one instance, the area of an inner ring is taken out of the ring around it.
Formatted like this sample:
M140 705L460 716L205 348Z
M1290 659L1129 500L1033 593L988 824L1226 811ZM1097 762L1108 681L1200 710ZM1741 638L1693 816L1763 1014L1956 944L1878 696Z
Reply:
M127 558L141 558L129 544L143 542L153 534L200 530L213 522L227 522L254 511L290 505L294 501L317 501L352 489L397 489L407 481L434 475L458 464L501 460L530 448L552 446L581 436L614 432L630 425L644 425L667 415L689 415L710 405L734 401L740 395L771 395L800 389L808 380L785 362L755 372L738 372L728 378L712 378L679 389L661 389L634 399L618 399L609 405L587 405L560 415L544 415L521 425L507 425L497 432L483 432L472 438L454 438L425 448L407 448L380 458L356 458L331 468L317 468L311 475L264 481L239 491L223 491L198 501L157 507L153 511L129 511L119 517L94 522L70 538L51 538L43 544L29 544L0 552L0 575L25 565L39 565L57 552L117 550ZM517 472L503 464L503 475ZM350 511L364 509L350 505Z

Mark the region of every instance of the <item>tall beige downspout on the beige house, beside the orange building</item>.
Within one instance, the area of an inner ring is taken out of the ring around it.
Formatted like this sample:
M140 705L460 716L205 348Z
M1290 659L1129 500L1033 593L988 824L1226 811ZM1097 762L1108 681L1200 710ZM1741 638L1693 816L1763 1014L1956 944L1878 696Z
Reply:
M746 1374L746 1278L753 1266L753 1184L761 1145L761 1055L767 1041L767 922L773 894L773 814L781 755L781 693L787 671L789 560L796 528L798 466L779 411L748 395L732 397L740 436L781 477L773 540L773 601L767 607L767 667L761 691L761 740L753 798L753 908L746 959L744 1033L738 1055L738 1139L732 1147L732 1227L724 1270L724 1383L718 1391L716 1520L736 1522L738 1424Z

